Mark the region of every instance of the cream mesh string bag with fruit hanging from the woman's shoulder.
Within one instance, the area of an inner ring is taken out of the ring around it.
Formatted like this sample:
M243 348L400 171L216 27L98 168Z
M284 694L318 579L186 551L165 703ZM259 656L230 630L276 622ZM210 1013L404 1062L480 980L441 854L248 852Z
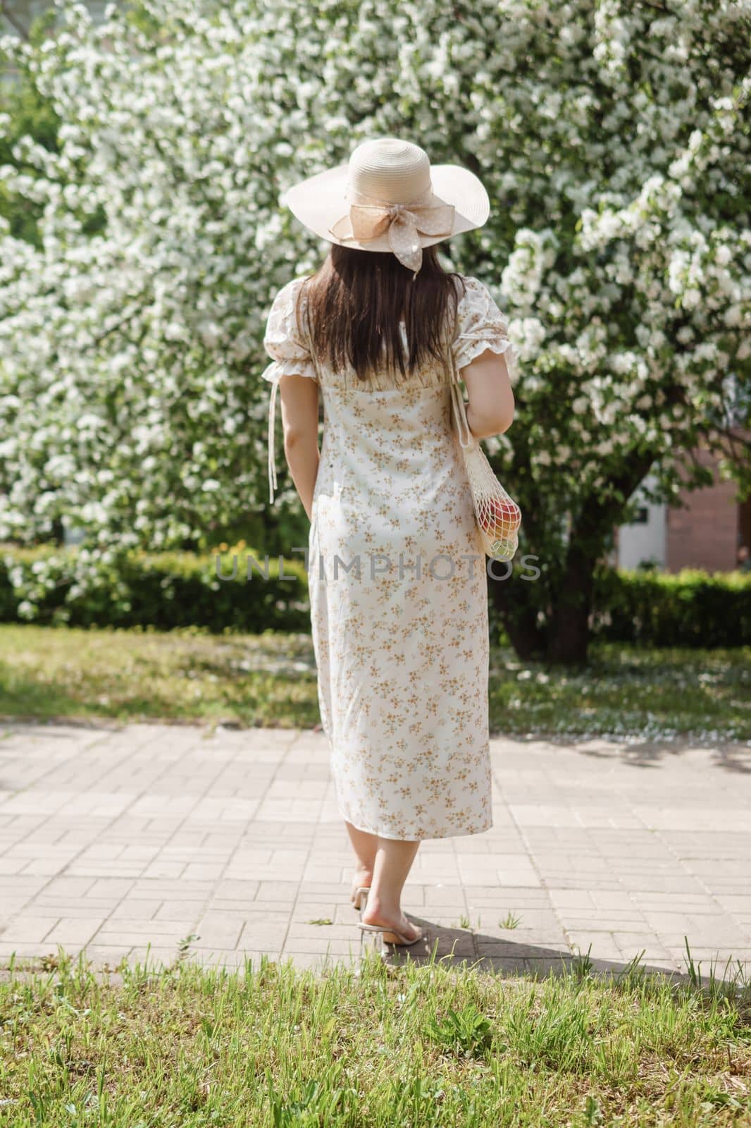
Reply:
M498 482L479 440L469 430L453 351L449 347L448 352L451 365L451 404L483 548L494 559L511 561L519 548L521 510Z

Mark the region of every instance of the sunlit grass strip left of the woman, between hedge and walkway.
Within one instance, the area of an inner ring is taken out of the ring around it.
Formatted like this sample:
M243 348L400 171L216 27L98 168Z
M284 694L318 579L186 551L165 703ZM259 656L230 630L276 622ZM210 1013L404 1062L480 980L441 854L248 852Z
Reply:
M0 714L312 728L307 635L0 627Z

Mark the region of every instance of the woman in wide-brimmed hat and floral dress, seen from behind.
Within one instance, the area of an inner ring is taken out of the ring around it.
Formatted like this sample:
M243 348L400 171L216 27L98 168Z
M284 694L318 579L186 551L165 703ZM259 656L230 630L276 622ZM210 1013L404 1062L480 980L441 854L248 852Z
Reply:
M423 934L401 890L419 843L493 825L485 554L451 359L469 429L484 438L511 424L515 351L483 283L438 261L435 244L487 220L487 193L467 169L381 138L286 203L332 247L268 316L271 500L279 387L286 461L311 521L318 700L355 853L352 899L362 928L414 944Z

